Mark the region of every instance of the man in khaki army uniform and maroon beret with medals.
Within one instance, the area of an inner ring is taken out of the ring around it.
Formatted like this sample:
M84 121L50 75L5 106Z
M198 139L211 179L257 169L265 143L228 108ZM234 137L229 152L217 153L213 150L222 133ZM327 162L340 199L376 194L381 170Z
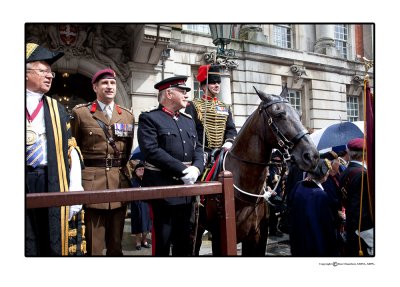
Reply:
M85 190L130 187L123 167L129 160L133 144L134 116L114 103L115 72L98 71L92 78L96 101L78 105L72 110L72 134L81 148L85 169ZM87 204L87 249L89 255L121 256L122 234L127 203Z

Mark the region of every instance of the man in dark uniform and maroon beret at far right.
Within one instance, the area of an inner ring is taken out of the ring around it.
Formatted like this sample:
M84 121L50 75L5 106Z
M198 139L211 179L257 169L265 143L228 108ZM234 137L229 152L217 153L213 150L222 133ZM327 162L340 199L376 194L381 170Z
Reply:
M346 256L374 255L375 224L371 212L374 202L371 202L368 193L367 165L363 163L363 146L362 138L348 142L350 162L340 176L342 202L346 209Z

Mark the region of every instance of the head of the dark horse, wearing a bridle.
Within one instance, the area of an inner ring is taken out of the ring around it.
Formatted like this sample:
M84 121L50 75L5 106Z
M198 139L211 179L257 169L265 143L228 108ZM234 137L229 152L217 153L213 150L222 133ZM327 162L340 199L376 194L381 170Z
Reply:
M297 111L286 99L287 88L281 95L265 94L254 88L261 99L259 113L262 113L274 135L275 148L291 159L304 171L315 168L319 159L318 151L308 131L300 121Z

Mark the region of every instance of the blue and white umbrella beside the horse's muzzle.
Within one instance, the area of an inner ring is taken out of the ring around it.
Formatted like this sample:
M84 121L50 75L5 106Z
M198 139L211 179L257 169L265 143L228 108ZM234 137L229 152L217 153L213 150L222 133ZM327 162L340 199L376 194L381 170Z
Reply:
M364 137L364 122L342 122L333 124L311 134L319 151L341 151L354 138Z

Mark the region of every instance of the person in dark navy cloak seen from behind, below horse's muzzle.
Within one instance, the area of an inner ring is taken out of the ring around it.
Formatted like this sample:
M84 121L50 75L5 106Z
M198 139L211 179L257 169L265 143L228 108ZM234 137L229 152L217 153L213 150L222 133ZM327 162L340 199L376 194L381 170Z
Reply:
M331 165L320 159L308 179L289 194L290 251L293 256L338 256L335 219L329 195L322 187Z

